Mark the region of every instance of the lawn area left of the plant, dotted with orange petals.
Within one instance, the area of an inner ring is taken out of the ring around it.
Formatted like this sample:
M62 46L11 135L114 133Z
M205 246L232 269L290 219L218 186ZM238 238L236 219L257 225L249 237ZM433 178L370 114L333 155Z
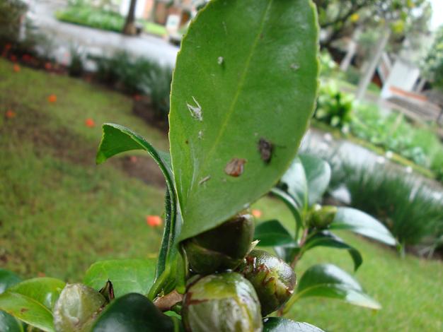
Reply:
M57 95L50 104L47 96ZM156 254L163 189L96 166L100 126L115 121L167 148L164 134L132 116L127 97L0 61L0 262L24 277L79 280L97 259ZM6 109L16 117L5 119Z

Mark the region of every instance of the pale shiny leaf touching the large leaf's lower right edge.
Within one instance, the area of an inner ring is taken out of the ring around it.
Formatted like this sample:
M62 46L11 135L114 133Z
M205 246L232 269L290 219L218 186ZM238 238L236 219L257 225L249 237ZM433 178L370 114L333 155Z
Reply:
M280 179L280 184L284 184L285 191L294 198L297 207L304 210L308 203L308 179L299 157L292 160L291 166Z

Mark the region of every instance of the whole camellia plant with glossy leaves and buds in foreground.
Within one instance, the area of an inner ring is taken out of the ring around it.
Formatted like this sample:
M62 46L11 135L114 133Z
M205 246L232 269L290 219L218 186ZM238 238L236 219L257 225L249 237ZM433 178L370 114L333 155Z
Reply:
M54 278L19 282L1 271L0 326L23 331L24 323L48 332L312 332L321 330L267 316L316 294L378 309L335 266L314 266L296 289L294 261L309 246L319 241L346 247L327 229L355 230L391 243L376 220L311 204L323 190L324 170L318 167L325 164L304 157L292 162L313 112L317 57L311 1L210 1L190 25L178 54L170 151L156 150L117 124L103 126L98 149L98 163L128 150L146 150L163 172L165 227L158 259L99 261L74 284ZM294 170L304 173L294 175ZM268 244L284 260L255 249L253 241L265 244L263 235L269 232L263 227L270 224L254 230L249 206L270 189L297 220L291 241L278 225L272 227L280 235ZM361 256L347 250L359 266Z

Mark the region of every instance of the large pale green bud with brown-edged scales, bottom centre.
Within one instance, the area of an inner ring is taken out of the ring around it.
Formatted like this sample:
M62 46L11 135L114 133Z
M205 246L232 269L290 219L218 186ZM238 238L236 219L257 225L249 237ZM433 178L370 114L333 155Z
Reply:
M234 272L207 275L183 298L183 323L192 332L259 332L260 302L254 287Z

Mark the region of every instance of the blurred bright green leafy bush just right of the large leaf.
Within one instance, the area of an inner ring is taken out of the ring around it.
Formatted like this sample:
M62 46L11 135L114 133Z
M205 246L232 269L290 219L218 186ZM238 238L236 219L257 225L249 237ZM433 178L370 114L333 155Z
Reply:
M335 83L321 85L314 117L347 132L352 120L354 97L338 90Z

